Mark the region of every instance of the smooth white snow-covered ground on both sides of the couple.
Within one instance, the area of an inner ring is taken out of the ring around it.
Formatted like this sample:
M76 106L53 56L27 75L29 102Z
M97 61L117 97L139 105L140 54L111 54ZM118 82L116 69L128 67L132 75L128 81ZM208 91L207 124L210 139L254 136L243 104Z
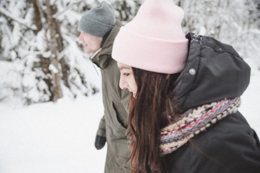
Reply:
M251 80L239 111L260 135L260 71L246 61ZM101 92L19 109L9 104L0 102L0 173L104 172L106 146L94 147L104 112Z

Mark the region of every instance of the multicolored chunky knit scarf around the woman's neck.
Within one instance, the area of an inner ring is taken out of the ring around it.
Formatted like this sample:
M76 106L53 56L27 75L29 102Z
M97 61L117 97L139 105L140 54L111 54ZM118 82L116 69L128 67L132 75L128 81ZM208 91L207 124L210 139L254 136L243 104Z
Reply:
M175 123L161 130L160 155L172 153L216 121L236 112L240 101L240 97L224 99L178 115Z

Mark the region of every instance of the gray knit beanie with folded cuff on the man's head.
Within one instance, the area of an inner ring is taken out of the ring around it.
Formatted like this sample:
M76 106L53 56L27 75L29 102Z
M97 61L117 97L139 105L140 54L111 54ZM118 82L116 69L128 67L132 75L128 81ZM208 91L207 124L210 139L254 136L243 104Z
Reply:
M103 37L116 23L115 12L111 5L103 1L99 6L83 14L79 29L96 37Z

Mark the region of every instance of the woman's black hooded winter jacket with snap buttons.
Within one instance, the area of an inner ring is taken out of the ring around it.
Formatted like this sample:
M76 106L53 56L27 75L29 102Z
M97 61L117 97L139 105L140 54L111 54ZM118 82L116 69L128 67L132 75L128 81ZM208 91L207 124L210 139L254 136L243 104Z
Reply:
M249 84L250 67L237 52L210 37L193 33L186 37L187 64L174 84L173 103L184 112L242 95ZM236 112L163 158L170 173L259 173L260 142Z

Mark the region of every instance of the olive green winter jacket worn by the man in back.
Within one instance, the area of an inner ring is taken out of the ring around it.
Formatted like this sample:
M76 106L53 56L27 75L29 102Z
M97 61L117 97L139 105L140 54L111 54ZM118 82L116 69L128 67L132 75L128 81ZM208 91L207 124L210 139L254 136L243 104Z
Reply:
M117 62L111 58L112 46L121 24L116 22L102 49L93 54L91 61L101 70L104 116L99 123L97 134L106 137L106 173L129 172L130 162L126 137L129 91L119 87L120 72Z

